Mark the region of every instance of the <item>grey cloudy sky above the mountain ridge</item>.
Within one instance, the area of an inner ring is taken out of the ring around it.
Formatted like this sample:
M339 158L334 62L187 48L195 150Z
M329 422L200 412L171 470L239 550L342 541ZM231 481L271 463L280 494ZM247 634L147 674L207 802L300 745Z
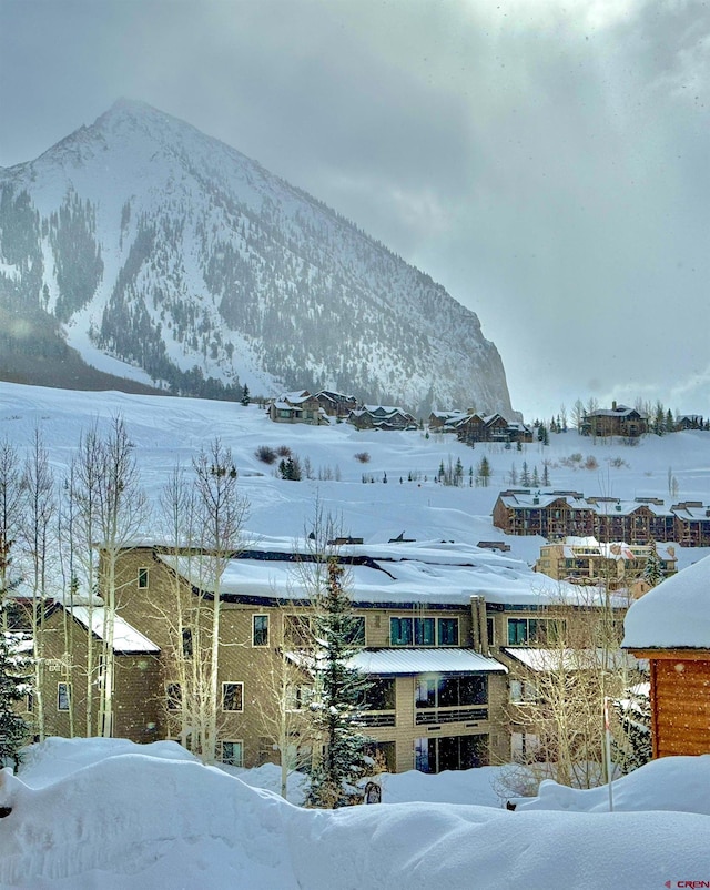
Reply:
M0 165L122 95L444 284L526 417L710 414L704 2L0 0Z

